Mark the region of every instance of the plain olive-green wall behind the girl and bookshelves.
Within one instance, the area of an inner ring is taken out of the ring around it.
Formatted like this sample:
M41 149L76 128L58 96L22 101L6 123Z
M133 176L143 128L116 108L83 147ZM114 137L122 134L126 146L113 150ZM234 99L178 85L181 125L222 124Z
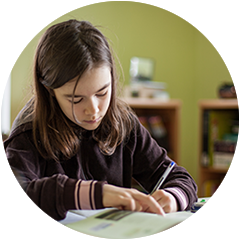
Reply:
M129 81L132 56L156 60L155 80L182 100L181 164L197 179L198 108L238 81L238 2L13 2L11 120L31 88L38 39L51 25L77 18L103 26ZM122 76L123 79L123 76Z

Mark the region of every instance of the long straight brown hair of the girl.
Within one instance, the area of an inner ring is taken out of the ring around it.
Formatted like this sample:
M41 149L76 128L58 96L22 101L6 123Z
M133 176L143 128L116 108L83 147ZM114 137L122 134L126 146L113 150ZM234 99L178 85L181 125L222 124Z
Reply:
M76 76L79 80L86 70L100 65L111 69L112 96L93 137L101 152L111 155L129 135L135 117L116 96L118 77L106 38L89 22L69 20L53 25L40 39L34 62L33 137L43 157L71 158L79 149L83 131L61 111L53 89Z

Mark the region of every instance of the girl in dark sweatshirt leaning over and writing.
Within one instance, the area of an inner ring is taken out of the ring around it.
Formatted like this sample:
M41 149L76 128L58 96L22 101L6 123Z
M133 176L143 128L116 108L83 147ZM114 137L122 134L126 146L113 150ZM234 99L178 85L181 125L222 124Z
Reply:
M34 96L4 143L2 167L19 172L24 219L63 219L70 209L117 207L157 214L189 209L197 187L116 96L109 44L89 22L69 20L42 36Z

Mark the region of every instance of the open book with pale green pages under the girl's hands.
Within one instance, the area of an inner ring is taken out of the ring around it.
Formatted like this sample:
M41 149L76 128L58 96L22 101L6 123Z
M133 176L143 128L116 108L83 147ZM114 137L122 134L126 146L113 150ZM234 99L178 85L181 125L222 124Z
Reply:
M108 209L64 227L72 237L111 239L186 237L193 235L194 229L187 220L118 209Z

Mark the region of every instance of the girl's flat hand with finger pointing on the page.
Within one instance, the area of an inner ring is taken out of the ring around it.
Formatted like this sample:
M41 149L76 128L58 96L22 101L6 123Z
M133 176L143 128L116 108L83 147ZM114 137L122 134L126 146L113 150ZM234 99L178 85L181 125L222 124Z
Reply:
M116 187L110 184L103 185L103 206L164 215L161 205L154 197L133 188Z

